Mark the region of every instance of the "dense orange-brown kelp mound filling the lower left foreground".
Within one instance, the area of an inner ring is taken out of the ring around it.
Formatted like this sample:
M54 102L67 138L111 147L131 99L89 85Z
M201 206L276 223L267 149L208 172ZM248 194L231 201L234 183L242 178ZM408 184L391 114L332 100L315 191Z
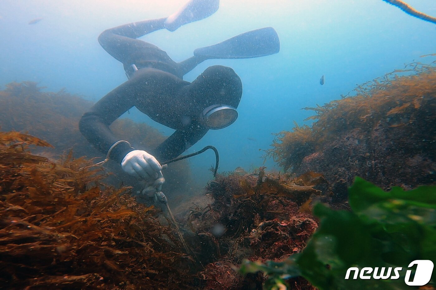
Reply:
M83 158L54 163L29 146L50 147L0 132L2 287L186 289L191 260L153 207L104 186Z

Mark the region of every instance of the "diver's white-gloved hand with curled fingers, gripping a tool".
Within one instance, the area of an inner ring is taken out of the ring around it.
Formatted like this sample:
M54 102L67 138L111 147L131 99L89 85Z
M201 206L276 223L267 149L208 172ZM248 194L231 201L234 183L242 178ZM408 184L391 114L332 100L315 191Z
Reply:
M131 176L144 180L163 179L162 166L153 155L144 150L133 150L127 153L121 162L121 168ZM165 179L164 179L165 181ZM161 183L163 183L160 180Z

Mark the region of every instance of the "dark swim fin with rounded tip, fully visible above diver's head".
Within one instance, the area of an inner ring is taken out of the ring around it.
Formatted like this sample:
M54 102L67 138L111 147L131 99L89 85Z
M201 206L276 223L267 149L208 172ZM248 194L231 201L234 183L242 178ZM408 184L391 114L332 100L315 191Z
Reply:
M221 43L194 50L194 56L206 59L253 58L278 53L279 36L272 27L239 34Z

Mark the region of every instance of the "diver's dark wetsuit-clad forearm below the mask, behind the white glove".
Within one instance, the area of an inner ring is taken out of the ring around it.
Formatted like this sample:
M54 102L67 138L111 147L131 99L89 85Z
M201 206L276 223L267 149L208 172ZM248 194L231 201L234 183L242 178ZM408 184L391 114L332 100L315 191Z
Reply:
M178 129L156 148L154 156L159 162L174 159L197 143L207 132L207 128L194 123L188 129Z

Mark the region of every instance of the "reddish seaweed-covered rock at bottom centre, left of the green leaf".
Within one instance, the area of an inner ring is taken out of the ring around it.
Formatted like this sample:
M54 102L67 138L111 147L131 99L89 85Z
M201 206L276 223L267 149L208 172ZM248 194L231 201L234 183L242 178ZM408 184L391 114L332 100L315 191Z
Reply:
M242 277L232 270L245 258L281 261L305 246L317 228L310 213L312 199L328 200L326 181L317 173L290 178L242 170L218 174L206 191L213 202L204 209L192 209L189 222L200 237L194 250L206 265L200 273L205 289L259 289L261 275ZM307 210L309 209L309 210ZM213 233L219 225L219 235ZM290 280L295 289L314 289L304 279Z

